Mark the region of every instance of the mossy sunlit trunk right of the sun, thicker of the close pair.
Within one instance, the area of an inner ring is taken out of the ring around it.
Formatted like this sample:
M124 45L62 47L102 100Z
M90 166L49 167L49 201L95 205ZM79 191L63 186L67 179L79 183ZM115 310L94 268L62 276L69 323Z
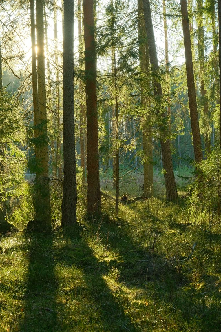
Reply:
M36 1L37 66L35 53L34 1L31 1L31 20L34 124L35 127L37 126L35 128L35 154L37 165L35 210L37 219L44 220L46 226L49 227L50 190L48 179L44 15L42 0Z

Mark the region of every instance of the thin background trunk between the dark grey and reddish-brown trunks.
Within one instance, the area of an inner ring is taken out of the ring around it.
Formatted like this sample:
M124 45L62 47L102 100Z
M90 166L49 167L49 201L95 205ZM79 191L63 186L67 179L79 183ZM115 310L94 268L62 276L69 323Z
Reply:
M79 41L79 63L81 68L82 62L82 31L81 31L81 0L78 0L78 41ZM82 95L84 93L83 84L80 79L79 82L79 95L80 95L80 115L79 115L79 125L80 125L80 154L81 154L81 167L83 170L82 180L86 182L86 170L85 170L85 155L84 155L84 106L81 102Z

